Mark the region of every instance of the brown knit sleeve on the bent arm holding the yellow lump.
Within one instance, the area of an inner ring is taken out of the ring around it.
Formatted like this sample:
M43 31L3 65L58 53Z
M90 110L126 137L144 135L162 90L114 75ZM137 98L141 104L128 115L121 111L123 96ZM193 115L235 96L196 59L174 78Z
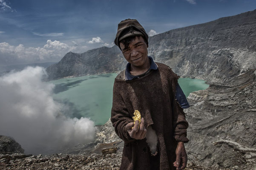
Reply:
M112 110L111 110L111 122L113 127L115 127L115 133L122 139L124 142L132 142L135 139L129 136L125 126L133 122L131 116L128 113L126 105L124 103L123 97L120 95L119 91L122 90L118 87L118 83L115 80L114 88L113 88L113 103L112 103Z

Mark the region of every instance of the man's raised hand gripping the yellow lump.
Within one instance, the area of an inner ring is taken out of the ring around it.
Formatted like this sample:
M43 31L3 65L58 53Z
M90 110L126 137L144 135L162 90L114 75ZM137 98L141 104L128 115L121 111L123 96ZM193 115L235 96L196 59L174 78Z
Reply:
M133 128L132 128L133 127ZM141 125L139 126L139 121L130 122L125 126L127 132L134 139L144 139L147 135L147 129L144 126L144 118L141 118Z

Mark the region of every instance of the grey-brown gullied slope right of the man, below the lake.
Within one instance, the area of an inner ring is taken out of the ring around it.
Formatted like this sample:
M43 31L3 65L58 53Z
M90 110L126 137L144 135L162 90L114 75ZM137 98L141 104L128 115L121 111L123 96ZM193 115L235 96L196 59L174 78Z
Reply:
M188 96L187 149L190 161L213 168L256 166L256 76L253 70L227 85L210 85Z

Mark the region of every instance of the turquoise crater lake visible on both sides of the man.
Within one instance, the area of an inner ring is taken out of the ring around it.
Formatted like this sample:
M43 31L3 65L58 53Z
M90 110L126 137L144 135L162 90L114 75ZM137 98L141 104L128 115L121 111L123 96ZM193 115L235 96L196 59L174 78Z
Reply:
M95 125L103 125L110 117L112 89L117 74L99 74L50 81L55 84L54 99L68 106L69 117L87 117ZM179 79L186 96L209 85L200 79Z

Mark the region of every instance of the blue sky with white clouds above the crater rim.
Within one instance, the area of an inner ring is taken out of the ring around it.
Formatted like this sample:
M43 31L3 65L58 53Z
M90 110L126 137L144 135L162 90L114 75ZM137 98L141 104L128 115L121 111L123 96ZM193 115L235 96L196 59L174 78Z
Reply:
M256 0L0 0L0 65L111 47L127 18L153 35L254 9Z

